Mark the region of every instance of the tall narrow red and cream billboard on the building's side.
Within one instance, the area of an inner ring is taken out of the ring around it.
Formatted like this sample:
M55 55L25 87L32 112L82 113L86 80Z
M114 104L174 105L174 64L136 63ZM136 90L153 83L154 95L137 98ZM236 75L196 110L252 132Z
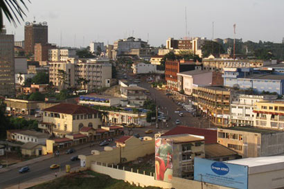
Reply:
M155 140L155 179L172 181L173 141L166 138Z

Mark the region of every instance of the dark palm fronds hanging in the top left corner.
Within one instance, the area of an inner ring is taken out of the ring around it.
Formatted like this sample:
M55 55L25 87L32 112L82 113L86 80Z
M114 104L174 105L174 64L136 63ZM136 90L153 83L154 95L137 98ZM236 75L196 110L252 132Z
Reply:
M30 0L26 0L30 2ZM24 16L26 16L24 10L21 8L24 6L26 10L26 3L24 0L0 0L0 31L3 28L3 15L6 16L10 23L13 23L14 26L17 26L17 23L20 23L19 18L24 21Z

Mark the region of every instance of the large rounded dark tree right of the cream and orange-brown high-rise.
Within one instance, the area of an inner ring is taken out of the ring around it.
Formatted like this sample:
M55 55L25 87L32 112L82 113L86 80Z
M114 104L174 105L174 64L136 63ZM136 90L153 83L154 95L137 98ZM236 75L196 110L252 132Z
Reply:
M202 57L208 57L209 55L217 55L224 53L224 48L218 42L213 41L205 41L201 47L202 50Z

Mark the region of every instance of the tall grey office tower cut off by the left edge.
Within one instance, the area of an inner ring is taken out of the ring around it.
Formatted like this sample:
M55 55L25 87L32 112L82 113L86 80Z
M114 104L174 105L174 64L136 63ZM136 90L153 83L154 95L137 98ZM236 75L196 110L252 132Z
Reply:
M0 96L15 96L14 35L0 33Z

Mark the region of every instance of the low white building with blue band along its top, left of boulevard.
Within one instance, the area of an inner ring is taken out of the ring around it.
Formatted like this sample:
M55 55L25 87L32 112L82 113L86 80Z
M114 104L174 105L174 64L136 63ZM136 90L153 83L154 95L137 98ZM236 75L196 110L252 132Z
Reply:
M100 96L97 94L89 94L80 96L80 105L89 106L103 106L103 107L114 107L121 105L121 100L126 98L116 98L113 96Z

